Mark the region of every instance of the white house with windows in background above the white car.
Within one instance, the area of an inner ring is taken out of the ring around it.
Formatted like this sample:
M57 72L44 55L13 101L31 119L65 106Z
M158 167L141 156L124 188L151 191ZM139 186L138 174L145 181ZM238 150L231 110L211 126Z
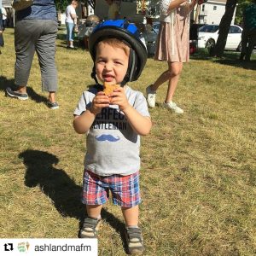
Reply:
M227 0L208 0L206 3L200 5L200 12L198 15L198 23L200 24L219 24L225 12L225 5ZM236 9L231 21L234 24L236 16Z

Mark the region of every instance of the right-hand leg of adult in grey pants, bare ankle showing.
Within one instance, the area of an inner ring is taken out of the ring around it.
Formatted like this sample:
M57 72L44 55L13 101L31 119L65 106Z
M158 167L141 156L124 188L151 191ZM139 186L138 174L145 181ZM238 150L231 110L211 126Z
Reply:
M57 90L57 70L55 66L55 40L57 37L57 22L54 20L40 20L44 22L44 32L38 38L36 51L42 77L42 90L49 92L49 102L55 102Z

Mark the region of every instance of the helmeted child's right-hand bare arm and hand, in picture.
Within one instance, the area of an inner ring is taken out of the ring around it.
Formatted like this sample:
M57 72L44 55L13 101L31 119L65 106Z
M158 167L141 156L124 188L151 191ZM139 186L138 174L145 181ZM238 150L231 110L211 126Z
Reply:
M119 109L125 113L125 117L128 119L132 129L138 135L148 135L152 126L151 119L141 115L136 109L132 108L125 96L125 89L123 87L114 90L110 95L110 102L114 105L119 105Z

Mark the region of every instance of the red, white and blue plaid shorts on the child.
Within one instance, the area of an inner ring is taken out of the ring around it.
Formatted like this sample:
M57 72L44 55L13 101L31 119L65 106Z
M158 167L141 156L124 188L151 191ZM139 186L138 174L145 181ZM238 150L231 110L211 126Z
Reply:
M102 205L106 203L109 190L114 205L127 208L137 206L141 202L139 172L127 176L99 176L84 170L83 204Z

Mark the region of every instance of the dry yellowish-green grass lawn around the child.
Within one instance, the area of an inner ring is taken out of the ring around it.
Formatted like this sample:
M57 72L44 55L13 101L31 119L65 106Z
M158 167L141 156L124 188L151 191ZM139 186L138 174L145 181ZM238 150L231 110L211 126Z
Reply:
M84 49L57 40L60 109L49 110L38 59L28 101L4 96L14 83L14 30L0 55L0 233L2 238L76 238L84 218L79 202L85 140L73 131L73 110L89 84L92 61ZM144 255L256 254L256 57L221 60L203 51L184 65L175 101L183 115L161 108L167 84L150 109L142 137L140 225ZM131 87L145 91L165 71L149 58ZM99 255L125 255L119 207L102 212Z

